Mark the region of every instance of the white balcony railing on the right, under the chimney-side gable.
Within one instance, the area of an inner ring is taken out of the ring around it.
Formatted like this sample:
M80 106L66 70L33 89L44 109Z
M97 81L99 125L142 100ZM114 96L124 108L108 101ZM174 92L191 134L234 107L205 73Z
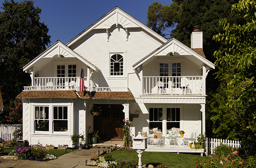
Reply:
M202 76L143 77L143 95L202 95Z

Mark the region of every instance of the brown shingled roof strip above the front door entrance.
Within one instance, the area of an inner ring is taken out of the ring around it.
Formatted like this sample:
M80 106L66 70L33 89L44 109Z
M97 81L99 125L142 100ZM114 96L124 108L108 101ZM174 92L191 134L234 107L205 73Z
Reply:
M91 98L88 93L77 92L81 98ZM130 99L134 100L133 95L129 91L92 91L91 95L94 99Z

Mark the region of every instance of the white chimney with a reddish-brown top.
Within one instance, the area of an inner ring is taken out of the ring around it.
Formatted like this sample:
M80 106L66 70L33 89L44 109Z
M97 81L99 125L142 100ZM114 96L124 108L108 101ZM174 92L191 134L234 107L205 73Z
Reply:
M191 33L191 48L202 48L202 32L200 26L194 26L194 31Z

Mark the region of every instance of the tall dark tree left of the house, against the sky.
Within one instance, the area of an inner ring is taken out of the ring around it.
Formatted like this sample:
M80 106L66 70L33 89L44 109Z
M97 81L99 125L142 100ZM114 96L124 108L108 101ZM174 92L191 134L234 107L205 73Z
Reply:
M10 102L31 83L22 67L50 43L48 28L40 22L41 9L32 0L5 0L0 12L0 87L4 112Z

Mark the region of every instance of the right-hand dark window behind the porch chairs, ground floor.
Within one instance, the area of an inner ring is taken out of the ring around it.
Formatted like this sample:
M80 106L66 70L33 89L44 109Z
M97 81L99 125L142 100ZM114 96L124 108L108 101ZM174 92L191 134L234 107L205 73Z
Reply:
M173 127L180 128L180 115L181 109L180 108L167 108L166 109L167 115L167 129L171 129Z

